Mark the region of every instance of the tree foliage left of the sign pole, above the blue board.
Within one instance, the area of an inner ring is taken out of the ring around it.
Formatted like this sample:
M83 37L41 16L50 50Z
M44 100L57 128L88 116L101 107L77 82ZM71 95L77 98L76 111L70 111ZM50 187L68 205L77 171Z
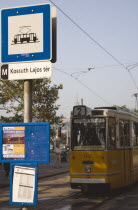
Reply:
M5 110L10 117L1 111L3 122L23 121L23 81L0 81L0 110Z

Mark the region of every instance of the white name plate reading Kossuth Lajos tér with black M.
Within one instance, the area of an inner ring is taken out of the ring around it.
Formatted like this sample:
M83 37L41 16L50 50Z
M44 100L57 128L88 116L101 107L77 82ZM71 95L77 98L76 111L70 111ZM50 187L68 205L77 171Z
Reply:
M9 63L1 66L2 80L25 80L50 78L52 67L50 61Z

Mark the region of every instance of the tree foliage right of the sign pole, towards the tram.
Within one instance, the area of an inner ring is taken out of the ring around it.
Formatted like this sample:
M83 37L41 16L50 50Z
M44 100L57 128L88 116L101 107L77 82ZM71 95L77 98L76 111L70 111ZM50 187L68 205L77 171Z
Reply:
M62 117L56 116L59 105L56 101L59 99L59 86L50 86L50 80L35 80L33 85L33 116L41 122L50 122L51 124L60 123Z

